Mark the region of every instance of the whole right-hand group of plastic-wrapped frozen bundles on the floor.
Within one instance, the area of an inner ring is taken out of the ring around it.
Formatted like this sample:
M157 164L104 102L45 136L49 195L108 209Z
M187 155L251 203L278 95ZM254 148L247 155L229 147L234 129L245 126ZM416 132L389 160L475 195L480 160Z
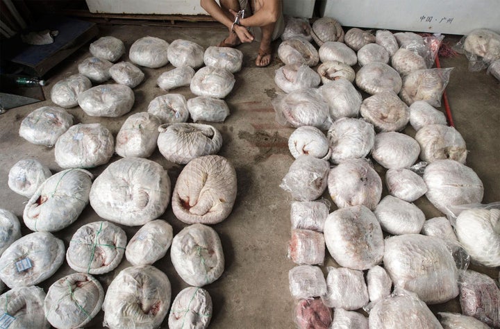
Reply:
M500 266L500 203L481 204L465 141L435 108L451 71L431 68L441 38L344 33L329 17L288 24L301 33L286 33L278 49L285 65L275 82L285 93L273 106L279 123L296 128L281 188L294 200L297 326L500 328L499 282L467 269L469 260ZM414 136L401 133L408 123ZM424 196L442 217L426 219L412 203ZM326 249L338 267L322 267ZM462 314L427 306L457 297Z

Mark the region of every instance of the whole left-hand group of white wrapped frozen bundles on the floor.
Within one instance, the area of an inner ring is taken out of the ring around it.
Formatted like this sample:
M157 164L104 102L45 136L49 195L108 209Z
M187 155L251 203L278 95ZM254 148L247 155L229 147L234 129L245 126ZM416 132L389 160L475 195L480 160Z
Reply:
M194 122L222 122L229 115L224 97L233 89L242 53L158 37L137 40L130 62L117 62L125 47L116 37L101 37L90 53L78 74L53 85L54 106L31 112L19 128L28 142L54 146L63 170L52 174L35 159L10 169L8 185L28 198L22 219L33 233L22 236L17 216L0 210L0 293L10 288L0 296L0 327L81 328L102 309L109 328L158 328L167 314L163 326L206 328L213 305L203 286L224 271L222 243L211 225L231 214L237 181L231 162L217 155L219 130ZM128 116L116 136L104 124L74 124L67 109L76 106L95 117L131 112L133 88L144 79L140 67L168 63L174 68L157 81L165 94L152 99L147 112ZM169 92L188 85L192 99ZM173 191L167 170L147 159L157 146L169 162L185 165ZM87 170L108 164L114 153L122 158L99 176ZM102 220L78 225L89 203ZM160 219L169 205L187 224L176 235ZM78 229L66 249L58 231L73 223ZM120 226L140 228L127 242ZM190 285L172 303L169 278L153 266L169 248L178 276ZM131 267L117 273L105 292L99 276L124 256ZM65 260L74 273L47 292L37 287Z

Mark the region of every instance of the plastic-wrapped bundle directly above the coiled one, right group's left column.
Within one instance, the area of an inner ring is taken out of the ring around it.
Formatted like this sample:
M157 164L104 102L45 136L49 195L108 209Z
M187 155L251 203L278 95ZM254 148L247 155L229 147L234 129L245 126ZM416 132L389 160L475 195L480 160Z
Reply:
M316 88L280 95L272 101L272 105L276 112L276 121L284 126L315 126L326 130L332 123L328 103Z

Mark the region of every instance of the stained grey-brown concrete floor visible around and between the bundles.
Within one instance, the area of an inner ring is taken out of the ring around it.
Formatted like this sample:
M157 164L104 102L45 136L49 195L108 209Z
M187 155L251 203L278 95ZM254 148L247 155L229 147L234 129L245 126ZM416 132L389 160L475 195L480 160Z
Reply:
M126 49L140 37L147 35L163 38L168 42L186 39L197 42L203 47L217 44L226 35L223 28L167 28L160 26L99 26L99 36L113 35L123 40ZM347 30L346 30L347 31ZM458 36L447 36L444 41L452 44ZM276 44L277 47L277 44ZM294 130L280 126L274 119L272 99L280 92L274 83L274 72L283 63L274 58L267 68L254 65L258 44L244 44L240 50L244 53L242 71L235 74L236 83L233 91L226 97L231 115L224 123L213 124L224 138L219 155L231 160L238 174L238 196L231 215L215 226L222 239L226 269L216 282L206 286L213 298L214 310L211 328L292 328L294 327L294 301L288 288L288 271L294 263L286 258L287 244L290 238L290 195L278 185L293 162L288 151L288 137ZM78 73L78 63L90 56L88 45L82 47L47 74L49 82L44 87L46 101L8 110L0 116L0 208L14 212L22 219L26 198L12 192L7 185L8 171L17 161L24 158L36 158L48 165L55 173L60 171L53 156L53 149L36 146L19 137L19 124L31 111L41 106L50 106L51 86L62 78ZM122 60L128 60L126 54ZM456 128L465 141L469 154L467 165L472 167L483 180L485 194L483 203L500 201L500 83L485 71L472 73L467 71L464 56L442 58L442 67L455 67L447 87L449 103L453 112ZM135 88L135 104L128 114L147 110L149 101L165 94L156 86L158 76L172 69L172 65L160 69L143 68L146 78ZM174 90L186 96L193 95L189 87ZM116 135L122 123L128 117L98 118L89 117L80 108L69 109L76 123L101 122ZM408 126L405 133L415 135ZM112 161L118 160L115 155ZM167 162L157 150L150 158L163 165L169 172L174 186L180 165ZM96 176L106 165L90 169ZM384 169L376 165L383 176ZM385 188L385 187L384 187ZM387 194L384 190L383 195ZM328 193L324 194L330 199ZM439 216L440 212L428 203L425 197L415 202L424 210L427 218ZM331 209L331 211L335 208ZM178 233L185 224L178 221L172 209L161 217L174 227ZM69 228L55 233L64 240L66 247L73 233L83 224L99 220L90 205L81 217ZM30 231L23 225L23 235ZM138 227L123 227L130 239ZM327 253L328 254L328 253ZM327 255L326 265L333 265L333 259ZM130 264L124 259L115 271L97 276L103 286L109 283L117 273ZM172 300L176 294L187 287L176 274L169 254L155 263L165 271L172 282ZM326 267L326 266L325 266ZM472 269L487 273L494 279L499 276L499 269L471 266ZM46 289L58 278L72 269L65 263L49 280L40 285ZM431 307L434 312L451 310L460 312L457 300ZM103 312L90 323L92 328L99 328ZM167 328L167 319L162 328Z

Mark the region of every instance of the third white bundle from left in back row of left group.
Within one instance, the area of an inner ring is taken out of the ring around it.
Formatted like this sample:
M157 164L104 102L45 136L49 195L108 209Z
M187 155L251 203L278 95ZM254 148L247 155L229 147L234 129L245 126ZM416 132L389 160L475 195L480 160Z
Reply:
M177 39L168 47L167 58L174 67L192 67L197 69L203 65L205 49L196 42Z

